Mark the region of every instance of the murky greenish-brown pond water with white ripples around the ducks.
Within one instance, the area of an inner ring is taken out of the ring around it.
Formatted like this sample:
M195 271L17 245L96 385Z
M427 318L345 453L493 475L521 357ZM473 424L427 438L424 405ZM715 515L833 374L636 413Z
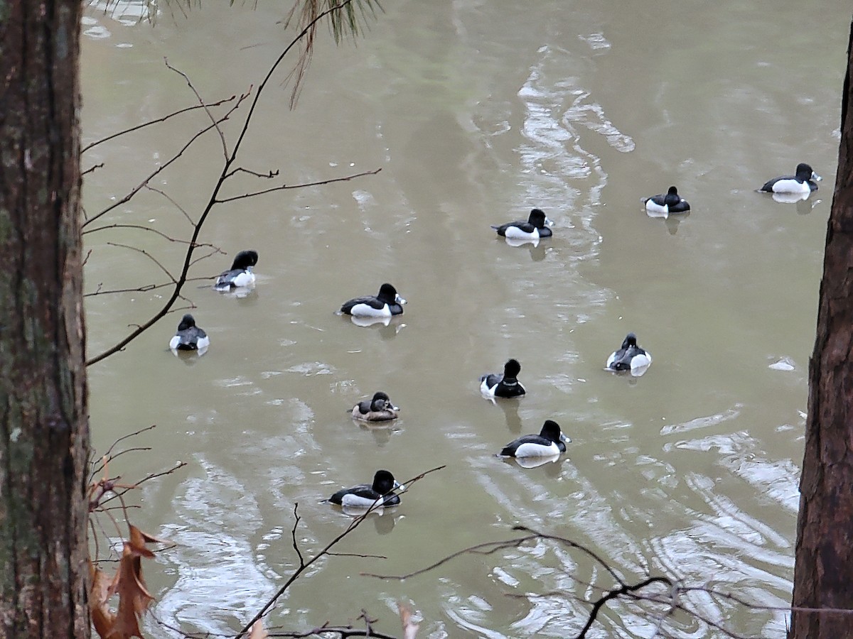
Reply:
M136 24L133 4L90 7L84 144L194 104L164 57L206 101L257 90L292 37L287 7L215 4L183 15L173 3L154 27ZM311 567L268 625L356 623L365 609L400 634L404 602L419 637L577 635L584 600L614 582L565 545L463 556L403 582L359 575L413 572L511 538L515 525L585 545L630 583L665 574L786 606L838 155L842 4L386 3L355 46L319 32L295 110L286 60L238 163L279 176L243 173L225 195L380 172L215 206L200 242L227 255L190 275L209 278L242 249L260 260L247 296L210 280L184 290L206 354L166 349L182 309L89 369L98 451L156 424L124 442L150 450L115 460L111 475L187 464L148 482L130 511L176 544L145 567L160 620L147 618L148 634L233 634L299 564L294 504L310 557L350 522L320 500L380 468L407 481L444 466L336 549L357 556ZM229 148L246 115L244 104L223 125ZM87 214L206 124L190 112L87 151L84 168L104 164L86 176ZM809 199L754 192L798 162L824 178ZM187 239L186 216L198 218L222 165L222 142L207 135L151 181L162 193L142 189L87 230L148 225ZM641 197L670 184L689 216L647 216ZM514 247L489 227L533 207L555 222L552 239ZM184 245L155 233L85 239L89 292L162 282L160 266L183 263ZM402 317L360 327L334 314L386 281L409 301ZM165 291L88 297L90 357ZM653 354L642 377L603 370L629 331ZM510 357L528 392L492 404L479 376ZM348 410L376 390L401 417L354 423ZM524 469L493 456L548 418L572 438L559 461ZM682 602L742 636L784 636L783 613L699 591ZM723 636L663 612L613 603L589 636Z

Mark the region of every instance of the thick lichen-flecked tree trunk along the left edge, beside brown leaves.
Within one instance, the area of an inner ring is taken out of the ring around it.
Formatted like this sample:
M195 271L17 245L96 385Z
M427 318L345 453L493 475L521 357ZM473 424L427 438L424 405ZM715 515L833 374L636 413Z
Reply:
M0 636L90 636L80 0L0 1Z

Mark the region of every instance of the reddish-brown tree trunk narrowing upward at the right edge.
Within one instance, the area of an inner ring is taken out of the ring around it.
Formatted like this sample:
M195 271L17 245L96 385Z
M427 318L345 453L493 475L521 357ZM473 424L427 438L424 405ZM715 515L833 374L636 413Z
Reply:
M853 45L853 24L850 26ZM853 636L853 56L841 102L838 175L827 228L794 567L791 639Z

